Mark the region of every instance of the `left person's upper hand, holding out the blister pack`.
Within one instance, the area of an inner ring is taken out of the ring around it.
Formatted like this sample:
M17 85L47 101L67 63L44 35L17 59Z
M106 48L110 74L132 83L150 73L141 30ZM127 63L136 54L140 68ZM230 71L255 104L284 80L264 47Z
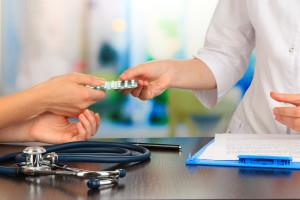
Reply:
M99 86L105 80L80 73L70 73L51 78L29 89L29 94L36 95L39 113L52 112L77 118L87 107L104 99L105 91L94 90L84 85Z

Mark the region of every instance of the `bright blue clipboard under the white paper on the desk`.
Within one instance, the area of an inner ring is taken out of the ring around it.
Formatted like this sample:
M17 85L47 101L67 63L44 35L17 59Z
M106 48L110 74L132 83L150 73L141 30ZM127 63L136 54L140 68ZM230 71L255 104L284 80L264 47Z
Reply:
M255 156L240 155L239 160L210 160L198 159L206 148L214 142L214 139L206 144L197 153L187 159L187 165L206 165L206 166L226 166L226 167L256 167L256 168L276 168L276 169L300 169L300 162L292 162L288 156Z

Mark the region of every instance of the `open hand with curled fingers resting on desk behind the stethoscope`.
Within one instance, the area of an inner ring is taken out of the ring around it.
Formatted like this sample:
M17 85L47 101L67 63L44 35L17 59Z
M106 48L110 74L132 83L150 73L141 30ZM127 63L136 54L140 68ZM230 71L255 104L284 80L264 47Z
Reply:
M99 114L85 110L79 115L79 122L70 122L68 117L50 112L32 119L28 137L30 141L59 144L89 140L100 126Z

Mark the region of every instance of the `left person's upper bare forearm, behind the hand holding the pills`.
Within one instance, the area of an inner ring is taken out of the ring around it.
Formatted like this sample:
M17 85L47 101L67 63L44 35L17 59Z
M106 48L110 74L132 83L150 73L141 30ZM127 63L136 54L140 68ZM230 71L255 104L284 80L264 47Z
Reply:
M44 112L41 96L34 89L0 98L0 130Z

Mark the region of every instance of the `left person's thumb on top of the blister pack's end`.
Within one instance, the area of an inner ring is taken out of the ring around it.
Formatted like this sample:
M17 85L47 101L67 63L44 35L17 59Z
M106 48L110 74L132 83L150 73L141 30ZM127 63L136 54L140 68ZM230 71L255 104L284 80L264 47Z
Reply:
M81 74L81 73L72 73L71 78L75 83L83 84L83 85L91 85L91 86L98 86L103 85L105 80L102 78L98 78L96 76Z

